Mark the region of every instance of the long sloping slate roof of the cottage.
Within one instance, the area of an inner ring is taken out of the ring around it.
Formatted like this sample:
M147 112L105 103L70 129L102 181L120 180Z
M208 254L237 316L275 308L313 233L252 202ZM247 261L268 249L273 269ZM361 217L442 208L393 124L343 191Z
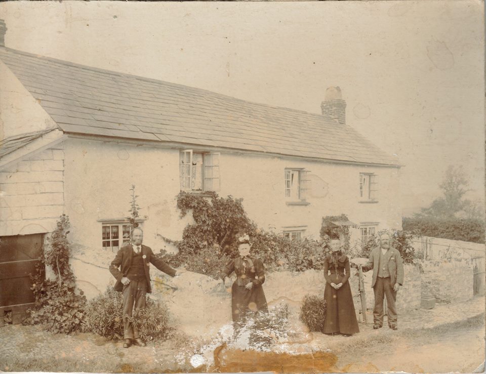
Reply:
M350 126L320 114L4 47L0 59L64 133L398 164Z

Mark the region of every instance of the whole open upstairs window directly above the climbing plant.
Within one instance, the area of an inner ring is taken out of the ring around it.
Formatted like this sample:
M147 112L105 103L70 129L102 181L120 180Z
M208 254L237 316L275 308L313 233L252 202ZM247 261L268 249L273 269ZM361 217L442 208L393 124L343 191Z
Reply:
M219 191L219 153L181 151L181 191Z

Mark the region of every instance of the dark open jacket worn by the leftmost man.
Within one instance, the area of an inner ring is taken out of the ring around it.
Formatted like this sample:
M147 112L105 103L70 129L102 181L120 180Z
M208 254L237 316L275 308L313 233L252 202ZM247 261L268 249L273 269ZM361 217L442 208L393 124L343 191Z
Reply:
M147 280L147 293L152 292L152 288L150 287L150 263L152 263L158 270L163 271L166 274L169 274L171 277L176 275L176 270L171 268L167 265L164 261L160 260L158 257L155 257L150 247L143 245L141 248L142 252L142 259L145 271L145 278ZM120 248L116 257L110 264L110 273L116 278L116 283L114 285L114 289L116 291L121 292L123 290L123 284L121 284L121 278L128 274L128 270L130 265L132 265L132 258L133 258L133 247L132 244L125 245ZM118 270L118 267L120 270Z

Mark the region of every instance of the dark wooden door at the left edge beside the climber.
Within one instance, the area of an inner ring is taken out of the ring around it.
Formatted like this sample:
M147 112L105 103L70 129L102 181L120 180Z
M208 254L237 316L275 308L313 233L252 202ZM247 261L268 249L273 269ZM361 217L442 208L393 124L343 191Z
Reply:
M35 301L30 274L40 263L44 234L0 237L0 326L12 312L12 323L21 323Z

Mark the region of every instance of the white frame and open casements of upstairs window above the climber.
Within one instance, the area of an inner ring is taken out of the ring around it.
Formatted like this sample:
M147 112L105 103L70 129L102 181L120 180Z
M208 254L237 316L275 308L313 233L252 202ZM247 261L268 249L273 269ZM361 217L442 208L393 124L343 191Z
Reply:
M193 165L194 154L203 157L201 165L201 189L193 188L193 174L196 165ZM221 176L219 172L221 154L219 152L204 152L193 149L183 149L180 151L179 174L181 191L205 192L219 191L221 188Z

